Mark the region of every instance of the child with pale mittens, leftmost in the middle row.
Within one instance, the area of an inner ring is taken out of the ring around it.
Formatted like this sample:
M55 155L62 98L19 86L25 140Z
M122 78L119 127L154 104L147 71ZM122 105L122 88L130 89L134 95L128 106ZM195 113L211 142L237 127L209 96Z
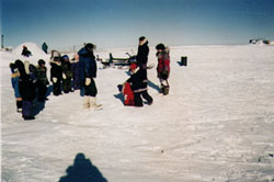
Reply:
M50 81L54 87L54 95L61 94L61 60L56 56L50 60Z

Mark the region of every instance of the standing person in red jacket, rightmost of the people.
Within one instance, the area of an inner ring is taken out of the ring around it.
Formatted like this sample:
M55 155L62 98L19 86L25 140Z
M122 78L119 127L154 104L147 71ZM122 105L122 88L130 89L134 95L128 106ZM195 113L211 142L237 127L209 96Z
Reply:
M157 49L156 56L158 58L157 76L161 83L161 93L167 95L169 93L169 88L170 88L168 82L168 78L170 75L169 48L160 43L156 46L156 49Z

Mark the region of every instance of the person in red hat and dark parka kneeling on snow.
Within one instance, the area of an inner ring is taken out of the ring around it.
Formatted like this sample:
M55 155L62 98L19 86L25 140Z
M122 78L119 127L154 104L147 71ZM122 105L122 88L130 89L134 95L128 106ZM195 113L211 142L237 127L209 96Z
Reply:
M132 76L126 82L132 86L132 90L134 92L134 105L142 106L141 96L148 102L149 105L151 105L153 99L148 94L148 80L146 76L136 64L132 64L129 68Z

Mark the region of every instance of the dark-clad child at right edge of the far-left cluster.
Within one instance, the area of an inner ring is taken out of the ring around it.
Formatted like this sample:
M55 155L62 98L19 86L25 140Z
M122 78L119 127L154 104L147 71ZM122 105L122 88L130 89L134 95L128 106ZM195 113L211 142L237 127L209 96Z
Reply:
M43 59L38 60L38 66L36 67L36 78L37 78L37 89L38 89L38 102L44 102L47 100L47 84L49 84L47 79L47 68L46 62Z

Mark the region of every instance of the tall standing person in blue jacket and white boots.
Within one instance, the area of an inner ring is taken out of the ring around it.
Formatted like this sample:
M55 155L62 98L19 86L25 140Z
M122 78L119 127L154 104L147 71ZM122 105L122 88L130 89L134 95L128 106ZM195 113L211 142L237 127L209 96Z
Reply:
M96 104L98 89L94 78L96 78L96 61L93 54L94 45L88 43L78 52L80 86L84 96L84 109L100 109ZM81 92L82 93L82 92Z

